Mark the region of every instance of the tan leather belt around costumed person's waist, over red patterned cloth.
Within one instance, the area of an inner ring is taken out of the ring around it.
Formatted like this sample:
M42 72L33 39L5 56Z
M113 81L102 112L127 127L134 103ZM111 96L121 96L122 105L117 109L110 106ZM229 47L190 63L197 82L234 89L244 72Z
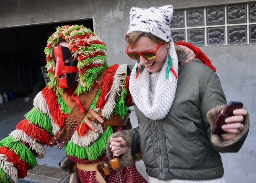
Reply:
M100 163L92 164L81 164L77 163L77 168L82 171L96 172L96 179L99 183L107 183L100 171L104 171L106 175L111 174L111 163L110 161L102 161Z

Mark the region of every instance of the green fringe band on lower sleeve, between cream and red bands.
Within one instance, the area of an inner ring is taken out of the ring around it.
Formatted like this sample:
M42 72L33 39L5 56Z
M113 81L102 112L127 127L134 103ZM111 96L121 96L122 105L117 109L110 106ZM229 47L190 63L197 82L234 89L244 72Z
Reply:
M29 164L29 169L33 169L37 166L35 155L32 151L29 150L26 146L23 145L20 141L14 141L12 136L6 137L0 141L0 147L8 147L13 150L17 155L20 155L20 158Z

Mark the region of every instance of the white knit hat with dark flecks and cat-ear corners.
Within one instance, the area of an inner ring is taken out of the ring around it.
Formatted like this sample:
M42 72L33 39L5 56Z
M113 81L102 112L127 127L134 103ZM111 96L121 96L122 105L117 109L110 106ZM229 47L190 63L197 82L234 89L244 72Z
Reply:
M170 42L172 40L170 29L172 14L172 5L154 6L149 9L133 7L130 12L130 25L127 33L134 31L147 32Z

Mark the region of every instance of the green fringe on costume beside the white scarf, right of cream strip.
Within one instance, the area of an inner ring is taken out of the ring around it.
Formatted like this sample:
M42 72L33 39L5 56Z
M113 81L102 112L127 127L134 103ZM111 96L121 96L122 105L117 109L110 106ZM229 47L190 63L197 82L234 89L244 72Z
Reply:
M127 77L127 74L125 74L124 82L126 77ZM124 83L124 86L125 86L125 83ZM125 96L127 94L127 89L125 89L124 86L122 87L121 97L116 99L116 108L113 110L113 113L119 114L121 116L121 119L124 119L125 115L129 111L128 106L125 104Z

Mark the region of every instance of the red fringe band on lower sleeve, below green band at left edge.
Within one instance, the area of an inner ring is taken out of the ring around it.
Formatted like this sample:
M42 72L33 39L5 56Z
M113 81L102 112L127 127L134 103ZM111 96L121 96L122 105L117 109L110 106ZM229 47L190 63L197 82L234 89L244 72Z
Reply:
M18 178L24 178L27 176L27 171L29 164L25 163L20 155L17 155L13 150L10 150L8 147L0 147L0 154L5 154L9 162L12 162L13 165L18 170Z

